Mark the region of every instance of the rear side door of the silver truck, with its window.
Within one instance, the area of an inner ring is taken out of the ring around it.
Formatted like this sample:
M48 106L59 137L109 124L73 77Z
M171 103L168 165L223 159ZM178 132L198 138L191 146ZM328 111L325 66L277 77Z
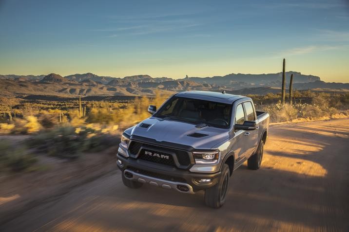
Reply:
M252 102L244 102L243 107L245 110L245 117L247 121L256 121L255 111L252 106ZM245 131L244 135L246 137L246 144L248 147L246 148L246 158L252 156L252 154L256 151L258 146L258 129Z

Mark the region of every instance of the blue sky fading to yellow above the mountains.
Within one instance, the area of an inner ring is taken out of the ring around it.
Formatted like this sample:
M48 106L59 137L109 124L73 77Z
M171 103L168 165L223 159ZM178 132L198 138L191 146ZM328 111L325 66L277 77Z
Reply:
M0 0L0 74L205 77L282 58L349 82L349 1Z

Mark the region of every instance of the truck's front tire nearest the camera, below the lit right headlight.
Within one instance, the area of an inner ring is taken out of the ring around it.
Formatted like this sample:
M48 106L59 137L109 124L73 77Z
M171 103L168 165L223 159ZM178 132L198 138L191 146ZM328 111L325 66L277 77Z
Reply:
M211 208L221 207L228 194L230 171L228 164L223 164L221 176L213 187L205 190L205 204Z

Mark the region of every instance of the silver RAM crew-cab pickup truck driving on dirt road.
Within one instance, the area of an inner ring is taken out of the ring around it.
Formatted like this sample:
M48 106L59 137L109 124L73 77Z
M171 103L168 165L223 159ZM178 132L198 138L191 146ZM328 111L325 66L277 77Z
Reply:
M152 116L126 129L119 144L116 162L127 187L204 190L206 205L219 208L233 171L246 160L252 170L261 166L269 114L255 111L249 97L186 91L148 111Z

